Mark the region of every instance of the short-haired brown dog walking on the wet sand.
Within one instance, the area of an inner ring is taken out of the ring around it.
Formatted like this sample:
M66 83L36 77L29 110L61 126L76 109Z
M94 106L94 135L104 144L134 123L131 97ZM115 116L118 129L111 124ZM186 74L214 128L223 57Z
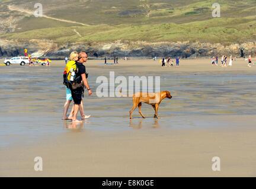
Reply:
M136 107L139 108L139 113L142 116L142 118L145 118L145 116L142 115L141 107L142 102L147 103L148 105L151 105L153 109L155 110L154 118L158 118L158 107L161 103L161 101L165 98L171 99L171 93L167 90L161 91L159 93L135 93L133 95L133 107L130 110L130 119L132 119L132 113L136 109Z

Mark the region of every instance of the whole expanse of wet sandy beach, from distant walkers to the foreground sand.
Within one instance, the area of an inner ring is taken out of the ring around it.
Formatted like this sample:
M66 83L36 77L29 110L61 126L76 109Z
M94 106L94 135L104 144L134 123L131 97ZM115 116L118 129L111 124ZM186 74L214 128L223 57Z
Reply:
M92 117L74 125L61 120L65 103L63 61L52 66L1 66L0 176L171 177L256 175L256 66L232 67L210 60L181 60L180 68L158 61L89 60L94 94L85 96ZM142 105L129 120L130 98L95 96L98 76L161 76L171 90L153 119ZM34 171L34 157L43 171ZM220 157L221 171L212 171Z

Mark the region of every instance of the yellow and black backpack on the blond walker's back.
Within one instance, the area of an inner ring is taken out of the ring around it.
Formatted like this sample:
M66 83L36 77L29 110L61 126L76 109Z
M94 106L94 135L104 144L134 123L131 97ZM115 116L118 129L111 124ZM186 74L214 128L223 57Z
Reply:
M76 66L76 62L71 60L66 64L63 72L63 84L69 89L72 88L72 84L75 84L80 77L76 77L76 73L78 73L78 67Z

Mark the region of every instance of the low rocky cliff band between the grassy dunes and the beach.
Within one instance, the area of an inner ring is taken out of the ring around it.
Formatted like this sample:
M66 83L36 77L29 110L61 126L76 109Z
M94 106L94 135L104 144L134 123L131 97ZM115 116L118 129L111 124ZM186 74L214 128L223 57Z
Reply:
M210 57L226 55L236 57L256 55L256 43L222 44L209 43L146 43L116 41L114 43L65 44L57 45L50 40L30 40L25 43L0 40L0 57L23 55L23 49L33 56L64 58L72 51L86 51L91 58L98 57Z

